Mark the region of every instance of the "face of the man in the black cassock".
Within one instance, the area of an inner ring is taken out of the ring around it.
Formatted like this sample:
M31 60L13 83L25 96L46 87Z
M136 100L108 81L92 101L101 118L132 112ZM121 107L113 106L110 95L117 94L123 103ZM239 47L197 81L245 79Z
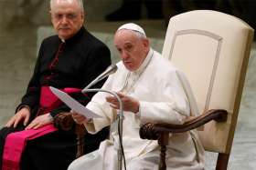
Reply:
M76 0L55 1L50 14L53 27L61 39L72 37L83 25L84 14Z

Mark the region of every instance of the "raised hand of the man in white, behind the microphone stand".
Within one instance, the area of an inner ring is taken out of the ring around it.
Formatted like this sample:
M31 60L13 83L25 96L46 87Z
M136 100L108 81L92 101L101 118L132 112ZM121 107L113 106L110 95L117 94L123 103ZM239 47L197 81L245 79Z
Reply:
M117 95L121 98L122 103L123 103L123 111L129 111L133 113L139 112L139 107L140 107L140 102L129 96L129 95L124 95L122 93L117 93ZM106 101L109 102L114 109L119 109L119 102L116 99L115 96L107 96Z

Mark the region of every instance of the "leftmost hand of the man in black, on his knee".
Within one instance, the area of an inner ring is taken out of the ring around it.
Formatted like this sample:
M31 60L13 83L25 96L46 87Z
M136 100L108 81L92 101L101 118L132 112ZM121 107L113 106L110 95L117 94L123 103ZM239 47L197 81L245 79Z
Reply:
M16 115L14 115L5 125L6 127L14 126L16 127L20 122L23 121L23 125L27 125L30 116L30 111L27 107L23 107L19 111L17 111Z

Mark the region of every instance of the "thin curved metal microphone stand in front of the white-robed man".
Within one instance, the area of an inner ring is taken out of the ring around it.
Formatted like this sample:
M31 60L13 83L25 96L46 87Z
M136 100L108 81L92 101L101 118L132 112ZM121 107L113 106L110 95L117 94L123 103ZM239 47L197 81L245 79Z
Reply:
M83 89L81 93L85 94L87 92L105 92L111 95L114 95L115 98L118 100L120 108L119 108L119 116L118 116L118 123L119 123L119 145L117 150L117 157L118 157L118 170L122 170L122 160L123 160L123 102L121 98L115 93L110 90L104 90L100 88L94 89ZM125 161L125 160L124 160Z

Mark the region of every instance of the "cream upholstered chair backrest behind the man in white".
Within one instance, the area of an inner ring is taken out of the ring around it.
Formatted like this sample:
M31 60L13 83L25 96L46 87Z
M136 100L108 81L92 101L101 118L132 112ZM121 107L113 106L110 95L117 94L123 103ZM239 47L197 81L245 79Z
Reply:
M187 76L200 113L229 112L226 123L211 121L199 131L208 151L230 153L253 32L239 18L210 10L169 21L162 54Z

